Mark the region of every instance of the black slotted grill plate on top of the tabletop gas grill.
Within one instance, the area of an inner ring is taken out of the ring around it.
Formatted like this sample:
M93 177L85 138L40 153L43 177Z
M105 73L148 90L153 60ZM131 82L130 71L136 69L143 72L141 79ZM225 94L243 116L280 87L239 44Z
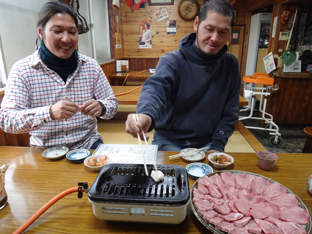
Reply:
M153 165L147 165L149 174ZM186 169L178 165L159 165L164 180L146 176L141 164L108 164L90 188L96 201L181 204L189 199Z

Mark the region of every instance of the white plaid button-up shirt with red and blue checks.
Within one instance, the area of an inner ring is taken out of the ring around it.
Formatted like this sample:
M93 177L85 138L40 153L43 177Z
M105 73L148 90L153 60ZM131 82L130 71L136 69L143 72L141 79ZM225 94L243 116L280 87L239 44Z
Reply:
M0 109L0 127L7 133L28 133L32 147L66 146L89 149L98 139L97 119L78 112L54 120L50 106L67 95L78 106L92 98L106 107L103 119L114 117L118 100L98 62L78 54L78 66L66 84L40 59L38 50L16 62L9 74Z

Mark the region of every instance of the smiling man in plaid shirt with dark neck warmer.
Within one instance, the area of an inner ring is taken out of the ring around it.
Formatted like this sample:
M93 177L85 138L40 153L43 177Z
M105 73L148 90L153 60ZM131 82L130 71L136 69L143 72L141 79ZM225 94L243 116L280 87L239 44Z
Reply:
M46 3L39 13L39 50L9 74L0 127L29 132L32 147L94 149L103 143L96 117L110 119L117 112L118 100L98 62L76 50L77 28L71 8Z

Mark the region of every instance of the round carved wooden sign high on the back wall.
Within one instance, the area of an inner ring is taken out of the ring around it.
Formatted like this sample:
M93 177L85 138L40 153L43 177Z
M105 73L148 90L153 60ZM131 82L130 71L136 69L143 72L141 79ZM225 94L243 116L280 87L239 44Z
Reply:
M182 0L177 7L177 12L182 20L192 21L198 15L199 9L199 3L196 0Z

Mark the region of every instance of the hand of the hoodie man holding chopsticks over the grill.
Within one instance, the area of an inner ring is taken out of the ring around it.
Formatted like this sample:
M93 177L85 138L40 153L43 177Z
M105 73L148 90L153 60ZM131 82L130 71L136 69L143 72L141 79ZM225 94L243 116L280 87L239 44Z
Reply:
M136 124L133 115L135 114L129 114L127 117L126 132L129 133L132 137L137 137L137 133L139 133L141 140L144 140L141 128L143 129L145 134L151 127L152 118L144 114L138 114L138 121ZM150 138L148 134L145 134L145 137L147 140Z

